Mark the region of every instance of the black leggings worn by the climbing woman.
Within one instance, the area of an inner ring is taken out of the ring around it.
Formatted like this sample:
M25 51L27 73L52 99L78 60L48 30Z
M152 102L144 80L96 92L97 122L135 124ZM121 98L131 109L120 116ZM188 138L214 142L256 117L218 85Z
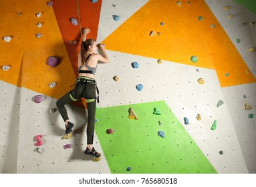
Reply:
M94 79L79 77L74 89L57 100L57 110L59 110L59 114L61 114L64 122L66 122L69 118L65 104L75 102L81 98L86 99L88 111L87 144L93 144L96 113L96 81Z

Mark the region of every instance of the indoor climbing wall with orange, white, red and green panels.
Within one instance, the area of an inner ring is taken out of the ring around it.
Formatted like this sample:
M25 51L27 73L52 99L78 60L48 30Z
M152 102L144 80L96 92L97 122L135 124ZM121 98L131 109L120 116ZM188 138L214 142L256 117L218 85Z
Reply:
M3 2L2 173L255 173L256 57L248 51L255 47L253 4L248 10L231 0L77 2ZM100 162L83 153L86 110L67 106L76 126L74 136L62 140L64 124L55 108L78 75L83 27L110 56L96 73L94 147L103 155ZM48 57L59 65L47 65ZM35 102L37 95L43 102ZM128 118L129 107L138 120ZM152 114L155 107L162 114Z

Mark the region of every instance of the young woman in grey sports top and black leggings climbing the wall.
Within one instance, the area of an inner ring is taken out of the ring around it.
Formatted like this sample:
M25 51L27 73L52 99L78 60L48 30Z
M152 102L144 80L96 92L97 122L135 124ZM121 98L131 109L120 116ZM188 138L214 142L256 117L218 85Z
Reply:
M78 67L79 67L79 77L76 81L76 85L72 91L66 93L57 100L56 106L66 123L66 134L72 132L74 124L70 122L68 118L68 113L65 108L65 104L70 102L75 102L81 98L86 99L86 106L88 110L88 126L87 126L87 148L84 151L85 154L100 158L100 153L96 152L93 147L94 140L94 123L95 123L95 113L96 113L96 81L94 79L97 63L102 61L103 63L108 63L109 58L104 49L103 44L98 44L94 39L86 39L86 35L90 33L90 29L84 29L84 34L82 35L81 50L78 54ZM102 55L97 53L97 49L102 51Z

